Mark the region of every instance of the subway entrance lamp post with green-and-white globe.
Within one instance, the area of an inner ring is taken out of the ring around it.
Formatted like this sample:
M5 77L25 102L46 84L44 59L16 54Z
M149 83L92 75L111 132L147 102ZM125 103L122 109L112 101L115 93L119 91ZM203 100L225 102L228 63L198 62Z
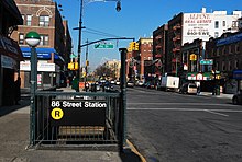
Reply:
M29 32L25 36L26 44L31 47L31 112L30 112L30 143L33 144L35 136L35 92L37 89L37 54L36 46L41 37L36 32Z

